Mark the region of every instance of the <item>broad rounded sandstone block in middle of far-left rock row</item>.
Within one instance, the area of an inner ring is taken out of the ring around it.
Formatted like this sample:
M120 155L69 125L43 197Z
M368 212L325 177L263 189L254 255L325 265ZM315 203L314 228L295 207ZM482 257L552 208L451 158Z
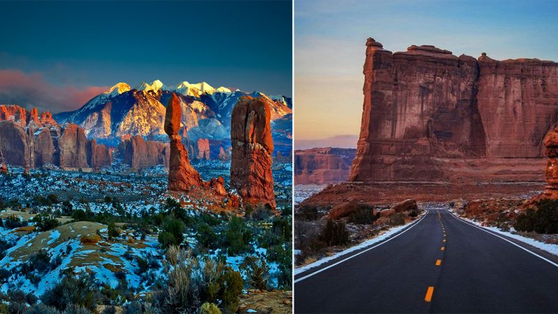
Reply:
M83 128L77 124L64 124L58 139L61 168L86 168L87 139Z

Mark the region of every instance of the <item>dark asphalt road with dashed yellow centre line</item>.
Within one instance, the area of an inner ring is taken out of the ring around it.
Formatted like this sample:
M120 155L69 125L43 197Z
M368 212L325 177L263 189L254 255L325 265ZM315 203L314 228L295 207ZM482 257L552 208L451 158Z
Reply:
M349 256L295 276L295 313L558 313L557 264L443 209Z

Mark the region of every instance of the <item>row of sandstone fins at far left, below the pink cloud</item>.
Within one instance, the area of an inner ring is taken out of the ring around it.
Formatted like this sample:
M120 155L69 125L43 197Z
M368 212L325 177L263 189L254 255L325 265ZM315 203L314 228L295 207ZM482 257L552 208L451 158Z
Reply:
M56 165L63 169L99 168L111 163L110 149L91 145L84 129L56 124L50 112L0 105L0 150L6 163L26 168Z

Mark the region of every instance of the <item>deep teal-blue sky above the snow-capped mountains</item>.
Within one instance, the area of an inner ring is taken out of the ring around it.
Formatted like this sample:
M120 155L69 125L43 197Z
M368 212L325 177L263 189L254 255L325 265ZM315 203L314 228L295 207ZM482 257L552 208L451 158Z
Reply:
M156 79L292 95L290 1L1 1L0 12L0 103L29 103L17 96L33 80L68 98Z

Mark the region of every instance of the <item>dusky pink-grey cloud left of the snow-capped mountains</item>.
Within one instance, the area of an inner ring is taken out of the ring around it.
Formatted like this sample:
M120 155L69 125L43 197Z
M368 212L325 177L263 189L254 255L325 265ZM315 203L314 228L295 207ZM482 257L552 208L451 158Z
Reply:
M75 110L107 89L109 87L59 87L46 82L40 73L0 70L0 104L20 105L27 109L37 107L39 112Z

